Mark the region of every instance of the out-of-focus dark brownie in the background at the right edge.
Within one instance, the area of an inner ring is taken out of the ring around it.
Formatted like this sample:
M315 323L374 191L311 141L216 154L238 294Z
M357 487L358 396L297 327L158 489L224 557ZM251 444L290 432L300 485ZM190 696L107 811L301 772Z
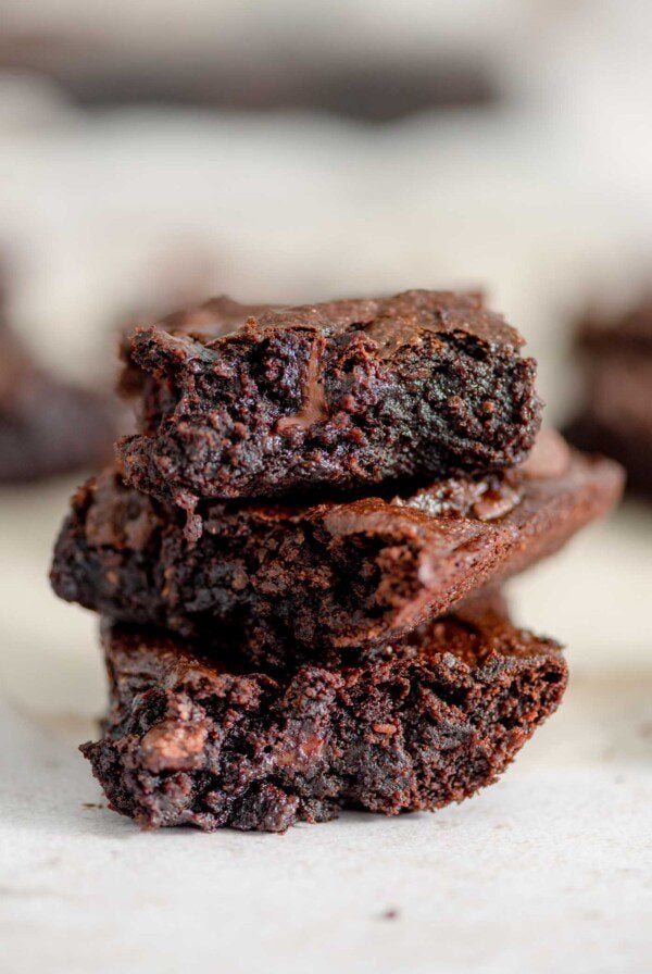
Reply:
M618 460L630 490L652 496L652 295L615 317L587 315L575 349L585 388L568 439Z

